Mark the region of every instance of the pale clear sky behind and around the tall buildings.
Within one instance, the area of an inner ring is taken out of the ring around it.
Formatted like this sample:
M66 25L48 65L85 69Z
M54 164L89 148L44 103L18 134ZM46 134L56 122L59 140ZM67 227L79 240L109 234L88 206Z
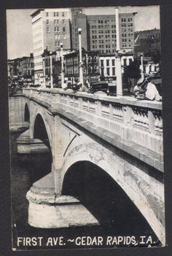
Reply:
M29 56L33 53L31 12L34 9L7 10L7 54L8 59ZM86 15L114 14L113 7L85 8ZM135 31L160 28L159 6L120 7L119 12L138 12L135 16Z

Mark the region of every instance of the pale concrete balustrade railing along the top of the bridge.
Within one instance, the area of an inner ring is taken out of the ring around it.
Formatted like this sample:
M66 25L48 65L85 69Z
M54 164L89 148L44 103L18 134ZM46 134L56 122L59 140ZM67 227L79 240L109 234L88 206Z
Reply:
M23 94L38 98L57 109L71 113L97 130L109 131L128 141L163 155L162 103L139 101L134 97L67 93L60 89L23 89ZM112 136L113 139L113 136ZM138 149L139 150L139 149Z

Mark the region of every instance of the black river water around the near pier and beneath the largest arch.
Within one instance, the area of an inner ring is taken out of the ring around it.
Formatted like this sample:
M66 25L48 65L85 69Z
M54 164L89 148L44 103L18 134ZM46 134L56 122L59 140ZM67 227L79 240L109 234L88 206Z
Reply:
M17 154L16 138L20 133L15 132L10 135L13 247L69 249L160 245L149 224L122 189L106 176L101 168L87 162L77 163L69 169L63 183L63 194L79 198L101 225L55 229L32 228L28 225L26 193L33 182L50 172L51 156ZM99 244L98 236L100 236ZM141 238L141 236L145 237ZM22 242L17 247L19 237ZM35 240L26 245L26 237L28 239L34 237ZM41 243L39 237L43 237ZM51 237L62 237L60 244L47 244L48 239L51 241Z

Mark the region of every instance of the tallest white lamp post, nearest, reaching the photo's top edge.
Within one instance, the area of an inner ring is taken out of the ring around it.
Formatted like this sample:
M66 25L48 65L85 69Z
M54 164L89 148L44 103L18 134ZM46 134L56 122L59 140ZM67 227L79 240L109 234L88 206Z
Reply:
M119 12L115 8L117 48L116 48L116 77L117 77L117 96L122 96L122 69L121 69L121 54L120 54L120 27L119 27Z

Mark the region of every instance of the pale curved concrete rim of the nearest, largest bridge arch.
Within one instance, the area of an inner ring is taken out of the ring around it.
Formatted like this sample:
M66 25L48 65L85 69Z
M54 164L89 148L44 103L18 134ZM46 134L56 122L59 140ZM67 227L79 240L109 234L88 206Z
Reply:
M144 216L160 241L164 242L165 228L152 210L146 193L144 193L144 190L139 189L138 180L132 177L135 172L137 173L137 171L141 170L126 163L124 159L120 159L114 153L110 153L108 150L102 150L101 147L98 148L95 144L82 144L75 147L66 155L66 160L64 160L63 164L63 187L68 171L74 169L72 166L78 162L90 162L106 172L121 187L125 194L128 195L130 201L134 203L139 212ZM128 165L127 168L126 165ZM149 180L148 174L143 172L141 175L144 176L145 180Z

